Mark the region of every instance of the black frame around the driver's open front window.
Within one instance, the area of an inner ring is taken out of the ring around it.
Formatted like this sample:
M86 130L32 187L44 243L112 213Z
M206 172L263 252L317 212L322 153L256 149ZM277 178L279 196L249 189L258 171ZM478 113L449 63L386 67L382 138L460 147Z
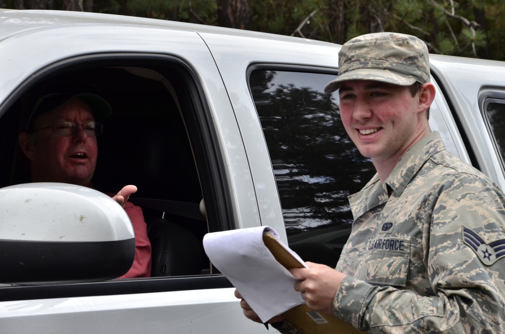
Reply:
M179 102L183 110L187 134L191 142L193 157L206 198L208 229L210 232L234 228L232 200L226 186L226 174L220 158L220 148L216 130L210 116L209 103L201 87L198 76L185 61L166 54L153 53L100 53L72 57L55 62L34 73L16 87L0 105L0 118L5 116L16 101L30 87L45 78L64 71L75 71L93 66L178 67L186 87L177 88ZM180 94L180 95L179 95ZM210 263L209 263L210 266ZM137 294L166 291L186 291L199 289L231 288L232 285L222 274L200 274L194 276L145 277L138 279L116 279L106 282L57 283L27 286L0 285L0 301L34 300L46 298L71 298L83 296L103 296Z

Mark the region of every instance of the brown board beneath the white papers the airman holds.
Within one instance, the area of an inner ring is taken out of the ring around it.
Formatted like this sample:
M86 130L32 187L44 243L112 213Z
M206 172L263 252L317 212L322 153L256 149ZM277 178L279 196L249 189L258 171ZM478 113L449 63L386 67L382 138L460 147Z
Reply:
M304 267L274 236L264 233L263 242L277 262L286 269ZM282 315L303 334L363 334L361 330L331 314L311 311L306 304L295 306Z

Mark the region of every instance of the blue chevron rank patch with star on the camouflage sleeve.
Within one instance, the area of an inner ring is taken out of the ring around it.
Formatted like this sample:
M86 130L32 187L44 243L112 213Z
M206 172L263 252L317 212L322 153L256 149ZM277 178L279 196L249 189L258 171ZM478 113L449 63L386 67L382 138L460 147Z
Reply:
M485 265L491 265L505 257L505 239L486 244L477 233L463 226L463 241L470 246Z

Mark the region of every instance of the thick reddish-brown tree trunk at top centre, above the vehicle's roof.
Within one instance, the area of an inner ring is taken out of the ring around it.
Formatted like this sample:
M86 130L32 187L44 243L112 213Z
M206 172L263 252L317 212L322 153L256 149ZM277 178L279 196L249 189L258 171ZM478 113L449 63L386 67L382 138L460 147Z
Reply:
M250 30L252 0L218 0L218 25Z

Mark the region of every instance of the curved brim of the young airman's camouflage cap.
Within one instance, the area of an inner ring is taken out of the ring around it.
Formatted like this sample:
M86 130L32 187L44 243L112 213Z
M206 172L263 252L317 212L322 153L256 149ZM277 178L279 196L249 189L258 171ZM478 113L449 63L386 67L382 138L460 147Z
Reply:
M342 81L349 80L370 80L390 83L398 86L410 86L416 82L412 77L406 77L397 73L383 69L358 69L339 75L336 79L330 81L325 87L325 93L333 93L340 88Z

